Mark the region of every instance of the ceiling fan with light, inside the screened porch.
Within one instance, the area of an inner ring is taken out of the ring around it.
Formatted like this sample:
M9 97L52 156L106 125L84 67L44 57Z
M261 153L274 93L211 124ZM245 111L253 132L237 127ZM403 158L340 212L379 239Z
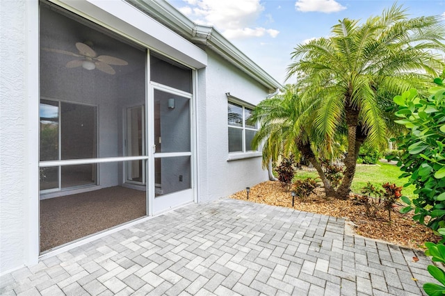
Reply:
M86 42L87 43L87 42ZM87 44L82 42L76 42L76 48L79 51L75 54L71 51L65 51L62 49L49 49L43 47L44 51L55 52L56 54L66 54L67 56L75 56L79 59L70 60L65 67L75 68L83 67L83 69L93 70L98 69L106 74L115 74L115 70L111 65L125 66L128 65L127 61L121 60L120 58L115 58L114 56L97 56L96 52Z

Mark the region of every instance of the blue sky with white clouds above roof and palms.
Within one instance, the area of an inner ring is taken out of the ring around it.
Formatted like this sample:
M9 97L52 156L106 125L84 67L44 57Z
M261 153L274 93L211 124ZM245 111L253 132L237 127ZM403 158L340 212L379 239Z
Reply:
M198 24L215 26L280 83L297 44L327 37L339 19L381 15L387 0L168 0ZM410 17L444 15L445 0L397 1ZM289 79L287 83L292 83Z

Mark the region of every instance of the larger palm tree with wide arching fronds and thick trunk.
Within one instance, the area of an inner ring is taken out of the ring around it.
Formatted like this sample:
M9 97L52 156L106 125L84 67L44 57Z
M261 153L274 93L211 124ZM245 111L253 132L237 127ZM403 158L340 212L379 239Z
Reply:
M348 196L361 145L386 142L390 120L382 106L391 105L394 95L432 81L444 65L435 54L443 51L444 36L439 16L407 19L402 6L394 5L363 24L343 19L332 27L329 38L295 48L288 78L298 76L298 106L305 111L294 113L298 117L291 121L306 125L294 126L288 135L308 156L314 155L309 142L333 139L341 131L348 138L343 180L337 191L325 188L327 194ZM317 159L311 162L319 166Z

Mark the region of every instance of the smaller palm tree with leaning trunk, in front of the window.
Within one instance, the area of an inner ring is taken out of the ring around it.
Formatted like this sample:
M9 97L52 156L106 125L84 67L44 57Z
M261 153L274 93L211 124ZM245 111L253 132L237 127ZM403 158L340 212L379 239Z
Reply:
M321 139L311 126L314 117L310 116L317 104L302 104L296 85L286 85L282 94L261 101L253 110L249 120L260 122L259 129L252 140L252 147L263 145L263 167L270 160L278 161L281 155L302 154L316 168L323 181L327 195L335 195L334 188L326 178L321 163L316 156L332 154L332 147L337 142L337 135L330 139ZM311 139L311 140L309 140ZM323 147L323 151L314 147Z

